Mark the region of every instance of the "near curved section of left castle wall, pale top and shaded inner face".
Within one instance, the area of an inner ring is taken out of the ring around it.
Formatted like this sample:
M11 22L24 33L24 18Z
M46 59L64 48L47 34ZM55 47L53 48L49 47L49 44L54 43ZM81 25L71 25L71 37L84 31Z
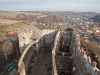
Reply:
M34 44L27 45L27 47L23 51L23 54L21 55L21 58L18 63L18 72L20 73L20 75L26 75L31 58L36 54L36 50L34 50L36 49L36 46L34 46Z

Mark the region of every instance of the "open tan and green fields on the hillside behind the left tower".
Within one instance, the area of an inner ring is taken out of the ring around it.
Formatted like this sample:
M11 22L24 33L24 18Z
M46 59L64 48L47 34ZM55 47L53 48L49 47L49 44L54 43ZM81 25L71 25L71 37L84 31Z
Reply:
M28 20L24 20L24 16L20 14L25 14ZM18 15L20 15L21 19ZM17 28L22 29L31 24L32 21L30 22L30 20L33 20L32 16L35 17L36 20L42 17L46 17L48 15L42 12L0 11L0 41L9 38L9 31L16 31Z

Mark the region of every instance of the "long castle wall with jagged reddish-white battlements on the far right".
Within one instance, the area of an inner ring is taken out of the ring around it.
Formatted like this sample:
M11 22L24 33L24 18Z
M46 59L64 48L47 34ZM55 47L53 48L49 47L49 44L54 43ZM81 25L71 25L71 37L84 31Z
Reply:
M84 51L83 48L80 48L80 38L76 33L73 34L73 56L75 57L74 63L79 75L100 74L100 70L96 67L96 64L91 62L91 58L86 55L86 51Z

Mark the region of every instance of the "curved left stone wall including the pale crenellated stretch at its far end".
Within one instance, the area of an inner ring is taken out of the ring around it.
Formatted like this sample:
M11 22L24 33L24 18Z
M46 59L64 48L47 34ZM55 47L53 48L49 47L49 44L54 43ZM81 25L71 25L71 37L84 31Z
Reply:
M18 72L20 75L27 75L30 60L32 58L32 55L34 55L33 52L34 50L38 52L39 49L41 49L44 43L43 41L44 37L46 39L45 41L46 43L51 43L51 40L53 41L54 39L53 37L56 34L56 32L57 30L54 29L44 29L42 31L40 39L32 41L31 43L29 43L29 45L27 45L27 47L25 47L18 63ZM36 44L36 46L34 46L34 44Z

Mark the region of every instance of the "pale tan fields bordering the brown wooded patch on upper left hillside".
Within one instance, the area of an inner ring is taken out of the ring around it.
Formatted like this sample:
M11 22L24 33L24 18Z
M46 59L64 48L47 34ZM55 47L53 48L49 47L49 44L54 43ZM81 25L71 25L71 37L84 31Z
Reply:
M25 14L25 15L33 15L36 16L37 19L46 17L48 15L43 14L41 12L9 12L9 11L0 11L0 25L10 25L22 22L23 20L17 21L16 16L18 14Z

